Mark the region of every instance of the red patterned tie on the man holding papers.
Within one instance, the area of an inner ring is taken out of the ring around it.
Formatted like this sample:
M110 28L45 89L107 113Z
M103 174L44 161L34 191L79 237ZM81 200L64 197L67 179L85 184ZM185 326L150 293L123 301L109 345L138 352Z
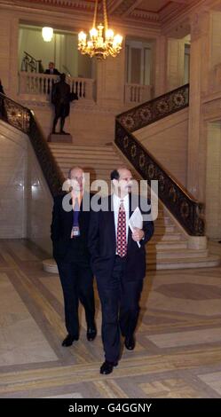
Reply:
M121 257L127 253L126 212L123 206L123 200L121 200L118 213L116 253Z

